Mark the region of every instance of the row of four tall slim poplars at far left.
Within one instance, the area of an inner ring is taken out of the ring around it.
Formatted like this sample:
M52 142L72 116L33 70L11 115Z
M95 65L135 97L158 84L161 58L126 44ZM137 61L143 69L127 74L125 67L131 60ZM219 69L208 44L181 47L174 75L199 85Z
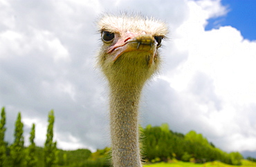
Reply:
M57 141L53 141L53 124L54 112L51 110L48 114L48 128L46 134L46 141L44 143L44 166L51 167L56 164L57 157ZM24 124L21 121L21 112L18 112L17 120L15 122L14 141L8 145L4 141L6 132L6 111L3 107L1 109L0 121L0 167L2 166L37 166L38 156L36 154L37 147L35 146L35 124L32 124L30 130L30 145L26 148L24 146L23 135ZM43 165L43 164L42 164Z

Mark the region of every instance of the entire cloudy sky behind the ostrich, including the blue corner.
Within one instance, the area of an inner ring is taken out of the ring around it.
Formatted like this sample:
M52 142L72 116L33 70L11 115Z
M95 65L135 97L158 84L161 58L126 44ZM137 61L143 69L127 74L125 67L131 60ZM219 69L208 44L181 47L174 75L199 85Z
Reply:
M0 106L12 143L21 111L44 145L48 112L63 149L109 146L107 82L95 68L102 12L141 12L170 27L159 75L143 91L143 126L195 130L215 146L256 154L255 1L0 0ZM254 18L253 18L254 17ZM256 155L255 155L256 156Z

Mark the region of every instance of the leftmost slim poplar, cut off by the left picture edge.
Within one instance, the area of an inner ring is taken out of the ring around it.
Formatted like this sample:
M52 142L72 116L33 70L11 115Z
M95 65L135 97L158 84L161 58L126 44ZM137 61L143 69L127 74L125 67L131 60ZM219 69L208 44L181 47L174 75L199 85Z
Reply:
M0 167L3 166L3 162L6 159L6 143L4 141L4 134L6 132L6 112L4 107L1 111L1 121L0 121Z

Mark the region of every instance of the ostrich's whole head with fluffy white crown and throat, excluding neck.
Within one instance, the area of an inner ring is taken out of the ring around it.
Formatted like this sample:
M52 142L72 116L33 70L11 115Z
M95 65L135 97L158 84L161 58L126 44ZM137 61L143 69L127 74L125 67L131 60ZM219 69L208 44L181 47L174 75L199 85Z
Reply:
M102 48L99 64L110 79L144 78L158 68L158 48L167 34L165 23L140 16L105 16L98 22Z

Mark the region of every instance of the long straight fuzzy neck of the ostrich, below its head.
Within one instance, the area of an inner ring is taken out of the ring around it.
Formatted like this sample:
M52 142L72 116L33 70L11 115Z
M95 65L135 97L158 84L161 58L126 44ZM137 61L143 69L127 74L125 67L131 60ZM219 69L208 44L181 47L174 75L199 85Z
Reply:
M142 166L140 161L138 104L143 86L111 86L110 127L113 166Z

